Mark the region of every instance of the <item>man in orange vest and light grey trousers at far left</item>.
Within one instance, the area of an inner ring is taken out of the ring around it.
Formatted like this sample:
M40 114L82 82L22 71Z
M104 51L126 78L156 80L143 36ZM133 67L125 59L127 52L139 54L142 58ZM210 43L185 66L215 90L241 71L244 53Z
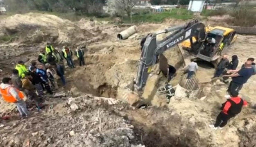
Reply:
M27 106L23 100L24 94L12 85L11 78L3 78L0 84L0 94L6 102L16 104L21 117L28 116Z

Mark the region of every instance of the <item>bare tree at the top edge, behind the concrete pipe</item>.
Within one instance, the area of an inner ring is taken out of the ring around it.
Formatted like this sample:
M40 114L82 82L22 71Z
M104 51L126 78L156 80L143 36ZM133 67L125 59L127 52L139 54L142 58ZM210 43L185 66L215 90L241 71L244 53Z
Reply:
M131 21L132 8L136 5L138 0L116 0L116 7L119 11L125 11Z

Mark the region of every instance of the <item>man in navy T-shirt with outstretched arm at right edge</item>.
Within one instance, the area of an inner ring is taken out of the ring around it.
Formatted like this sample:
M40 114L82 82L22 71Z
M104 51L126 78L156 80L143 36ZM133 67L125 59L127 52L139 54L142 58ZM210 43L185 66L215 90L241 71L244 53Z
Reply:
M232 77L232 81L229 84L227 92L237 91L239 92L248 79L254 74L252 68L252 62L246 61L244 68L241 68L237 73L231 75L223 75L223 77ZM225 95L226 98L230 98L230 95Z

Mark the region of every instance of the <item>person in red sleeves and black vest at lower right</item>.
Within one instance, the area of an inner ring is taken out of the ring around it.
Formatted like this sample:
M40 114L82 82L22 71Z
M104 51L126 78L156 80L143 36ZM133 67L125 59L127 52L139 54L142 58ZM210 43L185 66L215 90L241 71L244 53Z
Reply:
M222 111L217 116L215 124L209 125L209 127L214 130L217 130L218 128L222 129L227 125L228 120L239 114L242 110L242 107L247 106L247 104L248 103L245 100L238 96L237 91L232 91L231 98L222 104Z

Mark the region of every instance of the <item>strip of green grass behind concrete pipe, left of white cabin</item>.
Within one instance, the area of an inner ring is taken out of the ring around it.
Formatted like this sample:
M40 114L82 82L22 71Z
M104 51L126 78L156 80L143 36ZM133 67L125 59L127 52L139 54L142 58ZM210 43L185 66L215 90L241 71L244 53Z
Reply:
M175 19L191 19L193 18L193 13L189 12L186 9L173 9L169 12L161 12L161 13L151 13L145 15L135 15L132 16L133 23L139 22L163 22L166 18L175 18ZM130 22L128 17L124 18L124 22Z

